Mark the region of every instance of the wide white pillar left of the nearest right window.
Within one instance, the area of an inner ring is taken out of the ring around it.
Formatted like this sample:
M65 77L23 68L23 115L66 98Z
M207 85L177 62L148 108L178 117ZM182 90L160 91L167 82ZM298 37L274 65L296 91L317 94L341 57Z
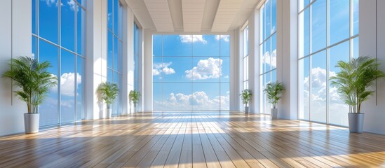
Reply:
M278 117L298 118L297 0L277 0L277 80L285 86Z

